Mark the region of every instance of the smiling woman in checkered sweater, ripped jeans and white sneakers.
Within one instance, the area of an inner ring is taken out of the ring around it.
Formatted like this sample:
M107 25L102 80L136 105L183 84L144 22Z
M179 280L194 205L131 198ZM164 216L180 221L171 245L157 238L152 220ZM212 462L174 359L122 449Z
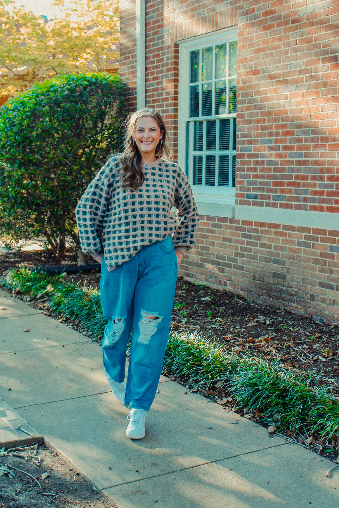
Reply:
M105 375L116 398L131 408L126 435L132 439L145 435L168 342L178 265L198 226L187 177L163 155L169 157L169 149L159 112L133 113L124 153L110 158L76 208L81 248L102 264Z

